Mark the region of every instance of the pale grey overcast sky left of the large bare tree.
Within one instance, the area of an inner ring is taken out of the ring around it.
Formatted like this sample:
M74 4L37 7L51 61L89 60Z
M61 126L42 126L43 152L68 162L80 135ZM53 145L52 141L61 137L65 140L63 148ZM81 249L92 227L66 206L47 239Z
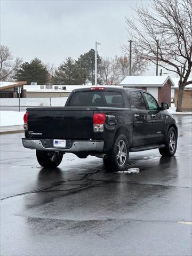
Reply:
M145 1L147 4L148 1ZM102 43L102 57L121 55L127 42L125 16L141 1L1 0L1 44L14 56L59 65Z

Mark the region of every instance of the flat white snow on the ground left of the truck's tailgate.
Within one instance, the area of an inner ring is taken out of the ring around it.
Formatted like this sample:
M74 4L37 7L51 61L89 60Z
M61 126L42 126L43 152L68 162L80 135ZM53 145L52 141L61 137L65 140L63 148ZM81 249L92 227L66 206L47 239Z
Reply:
M0 111L0 126L22 125L26 111Z

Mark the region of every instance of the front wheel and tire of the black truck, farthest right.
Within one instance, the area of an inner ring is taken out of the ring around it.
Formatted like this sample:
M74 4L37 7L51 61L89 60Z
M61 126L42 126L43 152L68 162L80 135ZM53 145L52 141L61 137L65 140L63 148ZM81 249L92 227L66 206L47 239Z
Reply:
M165 141L165 147L159 148L159 153L162 156L174 156L177 150L177 132L171 127L167 133L167 139Z

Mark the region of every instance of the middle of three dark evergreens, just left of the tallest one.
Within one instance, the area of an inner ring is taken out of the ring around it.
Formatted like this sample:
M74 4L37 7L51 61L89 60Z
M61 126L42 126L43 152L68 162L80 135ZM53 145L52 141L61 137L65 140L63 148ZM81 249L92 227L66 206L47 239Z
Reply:
M55 84L77 84L77 70L74 60L69 57L55 70L53 82Z

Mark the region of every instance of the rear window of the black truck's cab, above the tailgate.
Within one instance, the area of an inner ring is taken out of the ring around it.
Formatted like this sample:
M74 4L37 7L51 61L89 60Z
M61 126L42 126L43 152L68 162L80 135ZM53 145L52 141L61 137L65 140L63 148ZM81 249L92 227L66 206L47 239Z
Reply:
M76 92L69 101L70 107L125 107L120 92L88 91Z

